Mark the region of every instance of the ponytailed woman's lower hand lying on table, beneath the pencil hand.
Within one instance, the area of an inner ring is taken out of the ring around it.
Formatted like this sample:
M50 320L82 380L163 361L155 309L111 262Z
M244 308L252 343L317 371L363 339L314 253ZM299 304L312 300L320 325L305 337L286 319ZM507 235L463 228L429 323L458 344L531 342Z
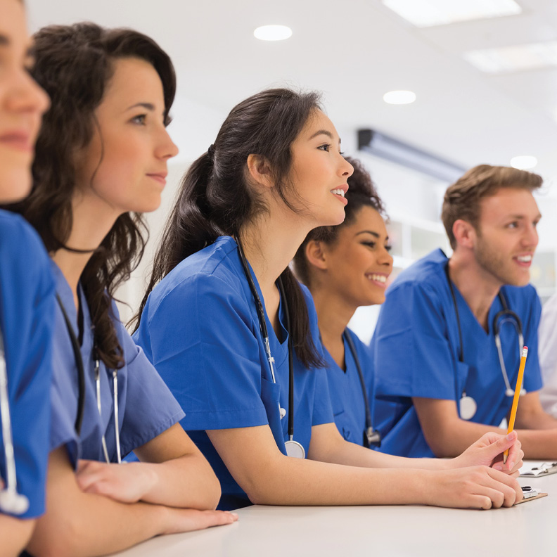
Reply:
M513 506L523 498L518 482L488 466L471 466L433 472L425 482L426 502L453 508L499 508Z

